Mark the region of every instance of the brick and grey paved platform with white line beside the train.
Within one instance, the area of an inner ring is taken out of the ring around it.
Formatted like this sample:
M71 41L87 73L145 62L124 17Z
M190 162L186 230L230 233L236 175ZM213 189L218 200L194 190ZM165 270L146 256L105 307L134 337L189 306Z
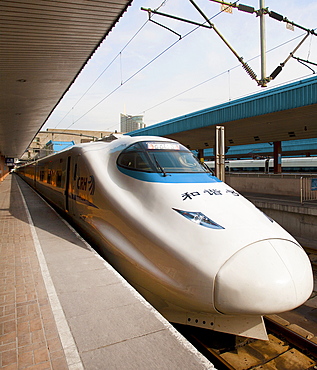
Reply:
M214 369L15 174L0 236L0 368Z

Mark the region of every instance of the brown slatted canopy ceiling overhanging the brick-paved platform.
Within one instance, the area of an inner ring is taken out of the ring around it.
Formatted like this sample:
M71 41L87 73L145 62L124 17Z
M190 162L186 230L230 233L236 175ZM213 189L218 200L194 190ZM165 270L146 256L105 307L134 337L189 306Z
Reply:
M20 157L132 0L0 1L0 154Z

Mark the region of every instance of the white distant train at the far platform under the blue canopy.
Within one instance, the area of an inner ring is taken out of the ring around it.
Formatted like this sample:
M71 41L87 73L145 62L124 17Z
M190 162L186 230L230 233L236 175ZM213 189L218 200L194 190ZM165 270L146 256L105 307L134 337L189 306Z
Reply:
M214 161L205 162L212 170ZM317 157L282 158L282 171L286 173L317 173ZM226 172L273 172L273 159L237 159L226 160Z

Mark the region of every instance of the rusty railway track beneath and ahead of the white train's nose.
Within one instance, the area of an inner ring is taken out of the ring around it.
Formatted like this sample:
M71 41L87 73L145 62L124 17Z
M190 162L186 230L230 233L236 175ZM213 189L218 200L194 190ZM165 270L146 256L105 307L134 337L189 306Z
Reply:
M265 318L268 341L175 325L218 370L317 369L317 338L305 338L272 318Z

